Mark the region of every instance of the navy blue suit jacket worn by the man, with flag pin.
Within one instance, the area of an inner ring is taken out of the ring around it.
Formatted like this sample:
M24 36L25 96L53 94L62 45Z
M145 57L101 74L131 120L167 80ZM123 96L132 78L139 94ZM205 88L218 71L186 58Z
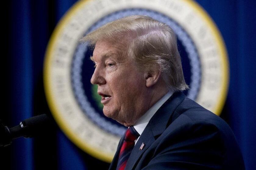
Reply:
M123 138L109 170L116 169ZM178 92L159 108L135 144L126 165L132 169L243 170L244 161L228 124Z

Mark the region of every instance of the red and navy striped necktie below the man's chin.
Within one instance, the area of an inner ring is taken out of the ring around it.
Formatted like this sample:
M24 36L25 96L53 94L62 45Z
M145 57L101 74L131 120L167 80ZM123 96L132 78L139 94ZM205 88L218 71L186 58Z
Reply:
M119 159L117 163L116 170L124 170L126 163L131 155L133 150L135 140L140 136L140 134L135 130L133 126L129 127L126 131L123 145L119 152Z

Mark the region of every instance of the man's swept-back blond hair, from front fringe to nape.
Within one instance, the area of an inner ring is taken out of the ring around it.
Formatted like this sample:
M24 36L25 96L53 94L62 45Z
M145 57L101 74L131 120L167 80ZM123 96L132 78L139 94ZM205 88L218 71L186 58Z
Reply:
M144 15L132 15L90 32L81 39L94 47L97 41L120 46L124 56L139 69L159 69L167 87L173 91L188 88L183 76L180 53L174 31L165 23Z

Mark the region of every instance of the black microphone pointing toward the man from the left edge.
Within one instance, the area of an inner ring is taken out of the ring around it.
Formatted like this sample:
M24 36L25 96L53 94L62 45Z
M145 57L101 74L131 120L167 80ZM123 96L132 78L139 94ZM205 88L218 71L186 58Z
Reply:
M7 146L16 138L32 138L47 129L49 123L50 119L47 114L41 114L25 119L24 121L21 121L19 125L10 129L7 126L4 126L1 122L0 146Z

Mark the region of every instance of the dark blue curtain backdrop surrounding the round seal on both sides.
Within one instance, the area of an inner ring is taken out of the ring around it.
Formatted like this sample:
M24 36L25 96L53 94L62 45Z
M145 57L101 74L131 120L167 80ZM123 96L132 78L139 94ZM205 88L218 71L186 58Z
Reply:
M256 2L196 0L226 44L230 81L220 117L232 128L247 170L256 169ZM56 24L75 0L2 2L2 110L8 127L50 113L43 87L43 62ZM0 148L0 169L108 169L109 164L77 148L55 124L45 136L19 138ZM6 168L2 168L6 167Z

